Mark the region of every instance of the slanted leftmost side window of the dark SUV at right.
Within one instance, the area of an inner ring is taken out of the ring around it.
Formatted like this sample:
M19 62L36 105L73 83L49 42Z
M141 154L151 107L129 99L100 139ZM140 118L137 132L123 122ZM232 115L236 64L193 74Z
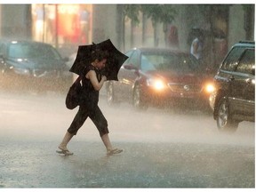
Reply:
M234 47L229 53L226 60L224 60L223 65L221 66L222 69L233 71L237 66L237 61L241 57L241 54L244 52L243 47Z

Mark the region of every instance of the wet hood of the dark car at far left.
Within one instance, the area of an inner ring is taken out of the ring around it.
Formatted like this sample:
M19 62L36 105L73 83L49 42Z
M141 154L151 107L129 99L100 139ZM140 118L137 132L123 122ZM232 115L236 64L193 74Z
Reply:
M54 70L64 68L63 60L49 59L10 59L10 64L16 68Z

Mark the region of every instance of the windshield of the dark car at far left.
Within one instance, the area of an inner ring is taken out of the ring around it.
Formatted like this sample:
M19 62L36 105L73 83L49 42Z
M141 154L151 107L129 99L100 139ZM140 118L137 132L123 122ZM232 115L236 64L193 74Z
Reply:
M60 60L60 54L47 44L11 44L9 57L14 59L44 58L47 60Z

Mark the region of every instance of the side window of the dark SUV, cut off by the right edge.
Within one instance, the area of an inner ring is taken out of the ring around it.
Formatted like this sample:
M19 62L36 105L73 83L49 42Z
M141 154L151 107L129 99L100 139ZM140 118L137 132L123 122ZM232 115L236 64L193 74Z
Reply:
M236 71L246 74L252 74L252 68L255 68L255 50L246 50L240 60Z

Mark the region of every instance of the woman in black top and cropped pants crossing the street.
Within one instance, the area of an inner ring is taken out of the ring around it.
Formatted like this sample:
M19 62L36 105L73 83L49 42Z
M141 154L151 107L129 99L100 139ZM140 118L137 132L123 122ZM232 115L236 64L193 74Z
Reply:
M98 106L100 89L107 80L106 76L101 75L100 70L105 68L107 59L107 52L100 50L92 52L92 63L84 70L84 76L82 76L82 92L79 109L58 147L60 148L60 151L57 151L58 153L73 155L67 148L68 142L76 135L88 116L100 132L100 138L107 149L107 155L118 154L123 151L123 149L112 147L108 137L108 121Z

